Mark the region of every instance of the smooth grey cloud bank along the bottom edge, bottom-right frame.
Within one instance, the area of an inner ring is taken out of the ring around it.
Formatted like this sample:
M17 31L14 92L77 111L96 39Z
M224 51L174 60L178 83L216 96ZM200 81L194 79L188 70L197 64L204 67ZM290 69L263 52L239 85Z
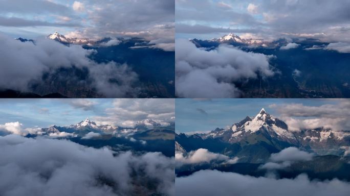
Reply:
M310 181L306 175L295 179L273 179L224 173L216 170L203 170L188 177L176 179L177 195L309 195L346 196L350 184L337 179L331 181Z

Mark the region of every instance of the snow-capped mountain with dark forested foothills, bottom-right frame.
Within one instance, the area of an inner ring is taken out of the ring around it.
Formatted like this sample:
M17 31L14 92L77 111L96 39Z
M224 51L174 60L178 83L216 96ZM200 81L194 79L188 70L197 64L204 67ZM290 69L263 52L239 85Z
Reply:
M268 114L264 108L256 116L247 116L228 128L216 128L206 134L181 133L176 135L175 140L175 151L179 157L190 156L191 160L198 160L200 156L203 160L205 156L218 157L211 161L180 164L176 167L178 177L210 169L254 177L273 174L278 178L294 179L300 174L307 174L310 179L350 181L350 156L344 153L344 146L350 145L349 131L336 132L323 128L290 131L284 121ZM288 148L311 153L309 155L313 157L271 162L272 154ZM207 149L216 155L193 153L199 149L202 149L201 152ZM235 161L220 160L223 155ZM267 165L277 167L269 168Z

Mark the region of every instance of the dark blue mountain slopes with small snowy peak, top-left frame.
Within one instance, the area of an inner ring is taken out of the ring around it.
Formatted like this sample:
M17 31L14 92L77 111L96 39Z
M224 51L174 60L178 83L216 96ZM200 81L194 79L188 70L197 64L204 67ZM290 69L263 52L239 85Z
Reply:
M88 56L96 63L115 62L126 64L136 73L137 80L132 84L132 92L125 97L138 98L168 98L174 97L174 52L164 51L155 47L144 38L112 38L100 40L89 38L68 38L58 32L50 34L47 39L55 40L63 45L81 45L86 50L95 52ZM26 38L17 38L21 42L33 42ZM41 80L31 81L26 91L11 88L1 88L0 97L3 98L101 98L105 93L99 92L91 83L89 69L72 67L58 67L42 73ZM80 82L78 82L80 81ZM117 81L111 80L111 83Z

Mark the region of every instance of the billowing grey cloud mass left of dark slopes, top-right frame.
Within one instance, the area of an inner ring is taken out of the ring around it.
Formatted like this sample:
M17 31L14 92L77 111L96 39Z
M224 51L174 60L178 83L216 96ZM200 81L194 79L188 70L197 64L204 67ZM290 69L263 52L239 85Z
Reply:
M176 40L176 93L180 97L237 97L233 82L274 75L269 56L221 45L212 51Z

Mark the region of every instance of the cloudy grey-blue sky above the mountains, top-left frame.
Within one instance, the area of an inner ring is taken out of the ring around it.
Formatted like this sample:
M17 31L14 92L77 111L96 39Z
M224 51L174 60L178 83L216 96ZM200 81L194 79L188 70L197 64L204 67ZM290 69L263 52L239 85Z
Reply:
M173 44L174 9L173 0L4 0L0 26L15 35L23 27L21 36L60 31L68 37L143 37Z

